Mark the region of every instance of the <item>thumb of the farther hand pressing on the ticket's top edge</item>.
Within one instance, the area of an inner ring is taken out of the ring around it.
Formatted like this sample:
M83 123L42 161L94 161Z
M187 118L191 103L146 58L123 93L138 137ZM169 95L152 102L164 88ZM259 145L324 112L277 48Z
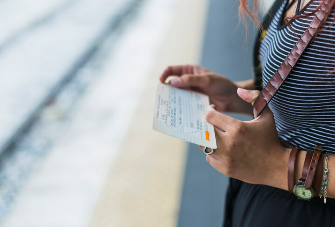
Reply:
M179 78L171 80L171 85L174 87L188 88L188 87L204 87L209 83L207 76L185 74Z

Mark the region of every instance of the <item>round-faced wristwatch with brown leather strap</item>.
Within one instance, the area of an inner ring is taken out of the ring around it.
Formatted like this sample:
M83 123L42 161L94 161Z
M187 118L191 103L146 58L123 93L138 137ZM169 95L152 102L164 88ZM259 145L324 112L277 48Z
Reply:
M321 146L316 146L313 153L309 151L306 153L302 176L293 188L294 194L300 200L310 200L317 195L312 188L312 183L314 181L314 175L317 170L322 151L323 149Z

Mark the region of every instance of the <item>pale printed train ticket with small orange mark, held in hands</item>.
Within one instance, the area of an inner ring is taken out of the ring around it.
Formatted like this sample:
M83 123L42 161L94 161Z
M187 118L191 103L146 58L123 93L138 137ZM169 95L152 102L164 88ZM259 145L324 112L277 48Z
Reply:
M153 129L216 149L214 126L205 120L209 105L207 95L158 84Z

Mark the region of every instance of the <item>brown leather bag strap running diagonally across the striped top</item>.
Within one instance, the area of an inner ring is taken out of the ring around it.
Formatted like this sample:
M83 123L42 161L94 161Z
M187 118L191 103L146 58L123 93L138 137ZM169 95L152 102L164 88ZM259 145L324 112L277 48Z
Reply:
M325 0L311 24L307 27L303 35L298 39L291 52L284 59L275 74L262 89L261 94L257 97L253 105L254 117L258 117L264 108L268 105L272 97L277 93L287 76L296 65L300 56L317 34L317 30L321 27L328 15L332 11L335 0Z

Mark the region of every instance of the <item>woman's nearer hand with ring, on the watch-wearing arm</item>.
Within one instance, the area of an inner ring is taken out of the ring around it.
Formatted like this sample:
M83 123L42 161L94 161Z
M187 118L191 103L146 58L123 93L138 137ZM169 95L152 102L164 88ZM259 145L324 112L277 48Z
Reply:
M245 101L253 103L259 91L238 89L237 93ZM206 120L215 126L218 147L206 157L211 166L244 182L287 190L290 150L281 145L268 107L252 121L239 121L216 111L212 105Z

